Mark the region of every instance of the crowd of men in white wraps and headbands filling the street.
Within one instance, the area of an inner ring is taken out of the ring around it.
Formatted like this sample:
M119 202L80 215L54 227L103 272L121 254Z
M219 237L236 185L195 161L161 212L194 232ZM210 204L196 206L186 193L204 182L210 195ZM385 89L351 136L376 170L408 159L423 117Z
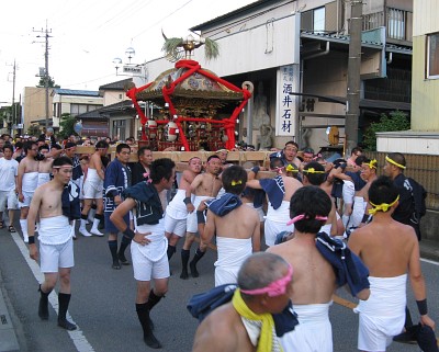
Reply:
M359 147L347 160L327 162L311 148L299 154L289 141L270 156L267 169L229 163L222 149L205 164L191 158L177 174L172 160L154 160L148 147L133 149L134 138L117 143L110 160L111 143L87 138L81 144L94 152L77 155L77 137L57 144L50 129L27 140L0 138L0 228L19 230L31 258L40 260L41 319L48 319L48 295L59 280L58 326L76 329L66 318L74 240L105 235L112 268L133 265L144 341L161 348L150 310L168 291L169 260L184 237L182 280L200 275L198 263L215 240L215 286L238 287L229 304L203 320L194 351L333 351L328 311L333 294L347 283L360 299L359 350L385 351L393 337L412 328L407 279L420 325L432 333L403 155L387 155L385 175L378 177L376 160ZM20 229L13 225L16 208ZM347 272L337 272L318 243L349 252ZM263 254L254 254L261 249ZM279 334L275 315L291 303L299 325Z

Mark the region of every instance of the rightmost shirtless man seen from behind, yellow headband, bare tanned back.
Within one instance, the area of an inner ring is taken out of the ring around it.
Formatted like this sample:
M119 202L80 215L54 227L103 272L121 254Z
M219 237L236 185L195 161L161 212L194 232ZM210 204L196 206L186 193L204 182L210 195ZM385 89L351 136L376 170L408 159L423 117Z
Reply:
M435 330L435 321L427 315L416 232L392 218L398 197L398 190L390 178L376 179L369 189L373 222L357 229L349 238L349 248L370 271L370 298L360 302L357 308L360 313L358 349L361 351L385 351L392 337L403 331L407 272L420 323Z

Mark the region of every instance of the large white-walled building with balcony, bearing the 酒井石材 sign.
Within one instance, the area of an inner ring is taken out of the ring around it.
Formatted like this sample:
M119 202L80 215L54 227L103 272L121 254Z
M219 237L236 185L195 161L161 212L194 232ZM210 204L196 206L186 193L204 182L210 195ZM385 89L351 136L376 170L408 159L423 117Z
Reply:
M410 110L412 1L371 0L363 5L360 130L383 112ZM344 135L350 4L341 0L261 0L193 26L215 39L219 58L194 60L236 86L249 81L252 101L240 118L239 139L257 144L260 126L274 145L327 145L326 130ZM172 67L146 64L153 79ZM361 139L361 134L360 134Z

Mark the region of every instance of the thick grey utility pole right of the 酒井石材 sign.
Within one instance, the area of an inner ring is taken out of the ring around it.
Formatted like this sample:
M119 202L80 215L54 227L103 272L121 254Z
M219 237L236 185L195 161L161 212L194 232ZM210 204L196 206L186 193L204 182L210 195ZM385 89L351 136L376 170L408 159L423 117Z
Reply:
M361 68L361 30L363 20L362 0L350 0L348 91L346 102L346 140L347 151L358 144L358 120L360 117L360 68Z

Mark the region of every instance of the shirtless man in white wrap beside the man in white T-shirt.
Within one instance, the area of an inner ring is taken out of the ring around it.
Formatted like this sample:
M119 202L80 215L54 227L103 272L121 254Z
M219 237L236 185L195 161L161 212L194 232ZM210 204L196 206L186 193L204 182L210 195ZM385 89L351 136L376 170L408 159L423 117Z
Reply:
M27 243L27 214L32 197L38 183L38 161L35 159L38 152L36 141L24 144L25 158L20 161L16 189L19 191L20 227L24 242ZM35 224L34 224L35 225Z

